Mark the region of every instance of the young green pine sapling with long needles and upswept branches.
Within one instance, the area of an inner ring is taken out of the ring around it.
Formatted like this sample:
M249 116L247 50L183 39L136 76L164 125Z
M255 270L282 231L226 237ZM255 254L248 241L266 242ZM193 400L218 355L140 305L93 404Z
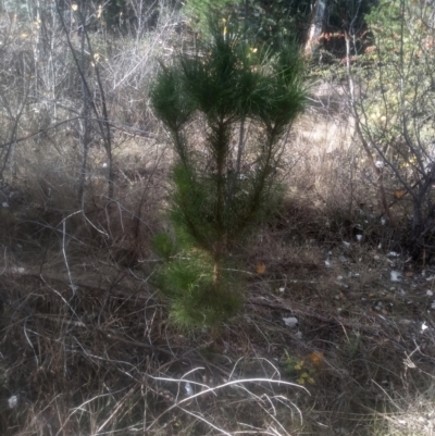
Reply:
M151 90L178 157L170 217L181 252L162 267L160 287L181 326L234 315L241 286L227 273L229 251L279 198L281 139L306 97L294 47L272 57L220 20L209 20L209 32L197 53L162 64Z

